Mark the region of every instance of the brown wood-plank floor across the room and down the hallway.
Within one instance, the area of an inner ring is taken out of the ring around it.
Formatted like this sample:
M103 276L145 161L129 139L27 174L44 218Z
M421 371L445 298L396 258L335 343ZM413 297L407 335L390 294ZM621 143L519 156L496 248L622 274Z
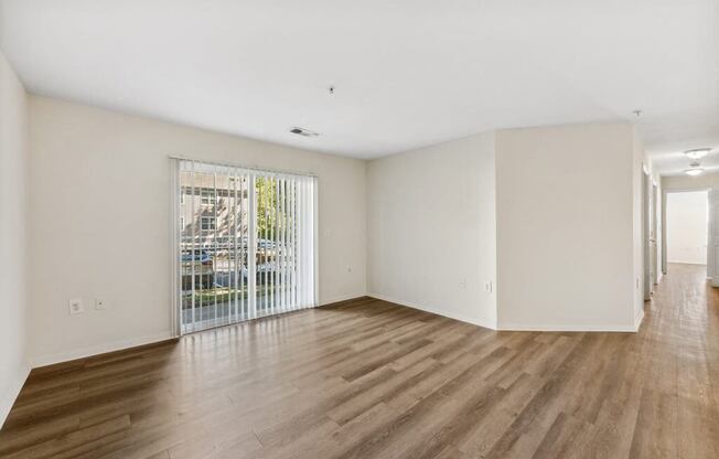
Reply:
M0 457L716 459L704 276L672 265L638 333L494 332L367 299L35 370Z

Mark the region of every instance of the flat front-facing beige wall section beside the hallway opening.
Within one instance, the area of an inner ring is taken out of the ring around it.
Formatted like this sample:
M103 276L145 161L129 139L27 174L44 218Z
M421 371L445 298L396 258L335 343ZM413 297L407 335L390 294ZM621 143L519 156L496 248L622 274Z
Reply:
M633 136L626 124L497 132L501 329L635 328Z

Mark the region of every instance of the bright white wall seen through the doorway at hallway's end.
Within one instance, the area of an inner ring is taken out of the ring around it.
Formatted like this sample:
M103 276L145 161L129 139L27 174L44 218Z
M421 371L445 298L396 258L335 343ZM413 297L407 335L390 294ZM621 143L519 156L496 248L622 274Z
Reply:
M668 193L666 200L667 260L707 264L707 192Z

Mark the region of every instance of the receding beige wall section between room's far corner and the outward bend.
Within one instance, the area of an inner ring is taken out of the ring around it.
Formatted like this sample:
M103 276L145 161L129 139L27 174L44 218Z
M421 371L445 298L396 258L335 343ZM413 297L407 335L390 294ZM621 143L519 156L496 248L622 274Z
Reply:
M496 327L494 134L367 167L368 295Z

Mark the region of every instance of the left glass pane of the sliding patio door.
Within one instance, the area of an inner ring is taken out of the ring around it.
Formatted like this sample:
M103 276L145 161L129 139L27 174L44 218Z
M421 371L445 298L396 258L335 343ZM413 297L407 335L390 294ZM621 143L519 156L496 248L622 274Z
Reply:
M183 331L247 318L248 178L180 174Z

